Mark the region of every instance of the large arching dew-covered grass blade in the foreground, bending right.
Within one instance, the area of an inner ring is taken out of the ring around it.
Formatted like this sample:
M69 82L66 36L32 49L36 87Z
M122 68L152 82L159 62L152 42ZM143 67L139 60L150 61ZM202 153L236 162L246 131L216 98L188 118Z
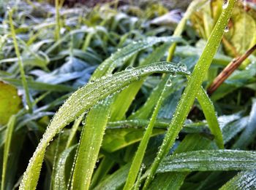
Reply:
M131 71L122 71L112 76L97 79L95 82L87 84L74 92L59 108L59 111L53 116L50 125L42 137L33 157L29 161L29 166L23 175L20 183L20 189L35 189L39 178L39 172L42 167L42 161L45 149L50 140L60 132L69 122L83 114L84 111L94 106L99 100L103 100L108 95L121 90L132 82L138 81L141 77L153 73L176 72L184 74L184 68L167 62L155 63L148 66L135 68Z

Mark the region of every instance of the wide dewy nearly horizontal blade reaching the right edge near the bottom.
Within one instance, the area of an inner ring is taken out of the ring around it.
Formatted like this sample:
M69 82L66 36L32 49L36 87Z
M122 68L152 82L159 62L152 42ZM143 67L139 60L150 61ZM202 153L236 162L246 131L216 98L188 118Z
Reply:
M192 171L255 170L256 151L188 151L165 157L157 173Z

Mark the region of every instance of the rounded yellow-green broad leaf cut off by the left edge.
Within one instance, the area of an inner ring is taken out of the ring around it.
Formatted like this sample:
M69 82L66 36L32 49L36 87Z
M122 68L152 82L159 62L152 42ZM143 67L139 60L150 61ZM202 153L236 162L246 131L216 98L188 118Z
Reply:
M0 125L7 124L10 116L20 110L21 98L15 87L0 81Z

